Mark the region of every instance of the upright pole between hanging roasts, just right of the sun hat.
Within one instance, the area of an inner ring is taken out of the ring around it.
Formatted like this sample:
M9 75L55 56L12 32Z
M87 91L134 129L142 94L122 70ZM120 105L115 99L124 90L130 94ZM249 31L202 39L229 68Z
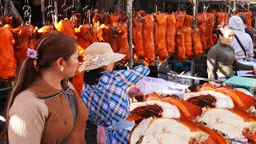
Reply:
M133 1L132 0L126 0L126 14L128 16L128 42L130 47L130 62L129 62L129 68L133 69L134 66L134 59L133 59Z

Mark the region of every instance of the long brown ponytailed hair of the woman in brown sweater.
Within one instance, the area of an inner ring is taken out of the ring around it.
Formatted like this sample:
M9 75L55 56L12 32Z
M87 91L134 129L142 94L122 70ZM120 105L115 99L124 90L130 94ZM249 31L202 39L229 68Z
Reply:
M52 62L58 60L58 58L68 61L70 56L75 53L77 45L76 40L66 34L46 34L38 40L35 46L38 50L38 59L36 62L39 69L49 68ZM14 103L14 99L23 90L26 90L37 76L39 76L39 72L34 67L34 59L26 57L18 68L15 86L11 91L6 107L6 132L10 120L9 111Z

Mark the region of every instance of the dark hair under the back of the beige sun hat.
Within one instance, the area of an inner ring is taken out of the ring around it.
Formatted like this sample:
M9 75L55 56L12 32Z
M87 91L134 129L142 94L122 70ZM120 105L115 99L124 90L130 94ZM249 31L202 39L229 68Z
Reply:
M99 78L101 78L104 73L105 70L102 68L85 71L85 74L83 75L83 81L88 85L96 85L98 84Z

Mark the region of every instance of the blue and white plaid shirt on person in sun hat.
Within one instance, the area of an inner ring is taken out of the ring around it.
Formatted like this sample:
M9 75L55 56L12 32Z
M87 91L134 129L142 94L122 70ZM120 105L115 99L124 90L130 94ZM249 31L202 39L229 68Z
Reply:
M133 70L115 70L102 75L96 85L85 84L82 99L89 110L89 120L97 126L109 127L130 114L129 96L126 89L150 73L146 66ZM126 144L129 130L109 130L108 144Z

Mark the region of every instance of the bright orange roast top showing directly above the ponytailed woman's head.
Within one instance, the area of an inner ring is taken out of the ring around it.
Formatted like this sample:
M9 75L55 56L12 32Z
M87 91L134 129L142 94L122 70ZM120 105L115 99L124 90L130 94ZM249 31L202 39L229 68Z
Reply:
M73 22L70 20L61 20L60 22L54 22L55 28L62 34L69 35L75 38L75 30Z

